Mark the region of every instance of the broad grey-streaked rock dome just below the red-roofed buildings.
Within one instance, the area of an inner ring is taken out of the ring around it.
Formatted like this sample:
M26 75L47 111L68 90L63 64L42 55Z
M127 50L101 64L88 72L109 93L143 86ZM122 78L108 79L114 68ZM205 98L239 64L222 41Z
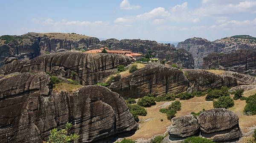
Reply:
M1 74L48 72L51 75L73 78L82 85L96 84L113 73L118 65L133 60L124 55L105 53L62 52L44 54L31 60L19 60L4 65Z

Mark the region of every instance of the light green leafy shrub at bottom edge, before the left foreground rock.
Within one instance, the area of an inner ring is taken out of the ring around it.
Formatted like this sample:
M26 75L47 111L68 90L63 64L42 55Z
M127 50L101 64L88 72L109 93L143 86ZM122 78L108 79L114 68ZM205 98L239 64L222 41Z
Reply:
M79 135L68 134L72 124L67 123L65 129L52 129L48 137L47 143L71 143L79 139Z

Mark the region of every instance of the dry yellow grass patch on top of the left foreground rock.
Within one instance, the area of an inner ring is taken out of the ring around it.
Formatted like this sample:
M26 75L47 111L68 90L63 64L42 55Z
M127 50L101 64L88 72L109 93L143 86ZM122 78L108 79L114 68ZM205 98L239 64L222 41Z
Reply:
M73 93L82 87L83 86L80 84L68 84L68 83L62 82L62 83L55 84L53 91L55 93L61 93L61 91Z

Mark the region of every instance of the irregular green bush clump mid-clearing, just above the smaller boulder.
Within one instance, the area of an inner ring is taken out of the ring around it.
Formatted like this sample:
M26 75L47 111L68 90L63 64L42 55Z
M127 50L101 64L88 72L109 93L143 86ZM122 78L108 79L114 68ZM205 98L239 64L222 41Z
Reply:
M172 118L175 117L175 114L177 113L177 111L180 111L180 109L181 109L180 101L174 101L171 105L169 105L168 108L159 109L159 112L166 113L167 118L171 120Z

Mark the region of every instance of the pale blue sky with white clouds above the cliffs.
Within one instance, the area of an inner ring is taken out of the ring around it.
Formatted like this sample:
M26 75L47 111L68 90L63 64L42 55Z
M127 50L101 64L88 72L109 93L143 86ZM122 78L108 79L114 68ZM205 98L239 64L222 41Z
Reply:
M184 41L256 36L256 0L3 0L0 35L75 32Z

